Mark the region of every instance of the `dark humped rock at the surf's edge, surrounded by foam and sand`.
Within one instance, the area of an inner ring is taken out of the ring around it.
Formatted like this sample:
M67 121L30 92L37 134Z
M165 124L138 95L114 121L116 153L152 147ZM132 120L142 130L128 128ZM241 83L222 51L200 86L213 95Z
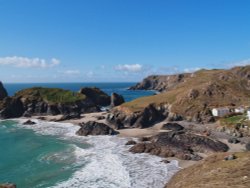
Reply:
M98 123L95 121L89 121L87 123L81 123L81 128L76 132L80 136L88 135L116 135L119 134L114 129L110 128L104 123Z

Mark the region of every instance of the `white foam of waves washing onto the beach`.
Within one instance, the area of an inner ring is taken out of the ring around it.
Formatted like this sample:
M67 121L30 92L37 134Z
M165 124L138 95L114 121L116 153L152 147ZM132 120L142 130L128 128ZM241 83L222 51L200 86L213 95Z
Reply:
M164 187L179 169L177 161L165 164L161 162L162 158L157 156L128 152L130 146L125 146L127 138L81 137L75 135L79 127L70 123L32 121L37 124L19 126L33 129L38 134L56 135L78 143L87 142L93 146L87 149L75 146L77 163L84 161L86 165L54 188L160 188Z

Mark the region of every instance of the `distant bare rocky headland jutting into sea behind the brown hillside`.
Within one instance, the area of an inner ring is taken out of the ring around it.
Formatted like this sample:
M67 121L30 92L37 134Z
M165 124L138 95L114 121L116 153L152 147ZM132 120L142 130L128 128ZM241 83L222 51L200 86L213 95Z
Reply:
M130 90L157 90L168 91L173 89L180 83L185 82L192 74L176 74L176 75L153 75L143 79L142 82L130 87Z

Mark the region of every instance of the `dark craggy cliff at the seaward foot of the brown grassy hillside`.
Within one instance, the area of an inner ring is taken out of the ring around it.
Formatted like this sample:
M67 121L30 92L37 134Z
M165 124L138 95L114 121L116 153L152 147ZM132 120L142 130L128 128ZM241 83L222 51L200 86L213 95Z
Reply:
M149 105L142 112L127 114L122 110L114 109L108 116L107 121L113 125L115 129L124 127L132 128L147 128L157 122L168 117L168 108L156 108L154 105Z

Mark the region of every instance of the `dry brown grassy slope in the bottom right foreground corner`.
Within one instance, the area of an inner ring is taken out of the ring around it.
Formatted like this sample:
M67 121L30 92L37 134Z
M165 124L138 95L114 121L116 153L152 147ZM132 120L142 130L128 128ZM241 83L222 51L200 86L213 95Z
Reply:
M165 188L249 188L250 152L234 155L235 160L225 161L225 153L214 154L182 169Z

